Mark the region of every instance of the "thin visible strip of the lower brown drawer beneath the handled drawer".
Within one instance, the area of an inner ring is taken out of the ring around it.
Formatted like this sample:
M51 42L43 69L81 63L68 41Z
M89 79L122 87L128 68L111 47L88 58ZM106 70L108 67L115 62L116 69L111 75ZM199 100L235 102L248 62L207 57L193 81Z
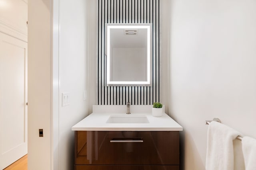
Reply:
M179 170L178 165L76 165L75 170Z

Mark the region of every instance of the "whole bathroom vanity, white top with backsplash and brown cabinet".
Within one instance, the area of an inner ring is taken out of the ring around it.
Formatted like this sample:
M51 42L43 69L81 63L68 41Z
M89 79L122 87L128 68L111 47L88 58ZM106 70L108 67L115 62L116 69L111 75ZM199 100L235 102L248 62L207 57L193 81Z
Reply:
M179 170L182 127L165 113L153 117L151 106L123 108L93 106L72 127L75 170Z

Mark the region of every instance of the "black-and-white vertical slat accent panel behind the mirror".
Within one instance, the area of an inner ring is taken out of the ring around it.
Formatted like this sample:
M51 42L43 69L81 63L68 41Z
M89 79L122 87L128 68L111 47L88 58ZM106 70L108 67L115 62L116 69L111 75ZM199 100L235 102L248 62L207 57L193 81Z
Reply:
M152 86L105 86L105 23L152 23ZM98 0L98 105L160 100L159 0Z

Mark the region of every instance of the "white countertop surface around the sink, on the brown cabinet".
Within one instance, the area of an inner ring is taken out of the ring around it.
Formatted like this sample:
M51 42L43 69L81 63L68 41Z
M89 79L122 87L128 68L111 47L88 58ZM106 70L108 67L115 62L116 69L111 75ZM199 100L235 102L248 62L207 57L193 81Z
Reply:
M149 123L106 123L110 116L145 115ZM152 113L92 113L72 127L72 131L182 131L183 128L166 113L154 117Z

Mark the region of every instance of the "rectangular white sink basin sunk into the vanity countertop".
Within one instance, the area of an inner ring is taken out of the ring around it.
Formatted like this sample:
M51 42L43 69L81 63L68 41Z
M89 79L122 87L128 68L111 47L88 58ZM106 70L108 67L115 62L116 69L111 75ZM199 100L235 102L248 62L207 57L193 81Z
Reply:
M146 115L110 115L106 123L149 123Z

